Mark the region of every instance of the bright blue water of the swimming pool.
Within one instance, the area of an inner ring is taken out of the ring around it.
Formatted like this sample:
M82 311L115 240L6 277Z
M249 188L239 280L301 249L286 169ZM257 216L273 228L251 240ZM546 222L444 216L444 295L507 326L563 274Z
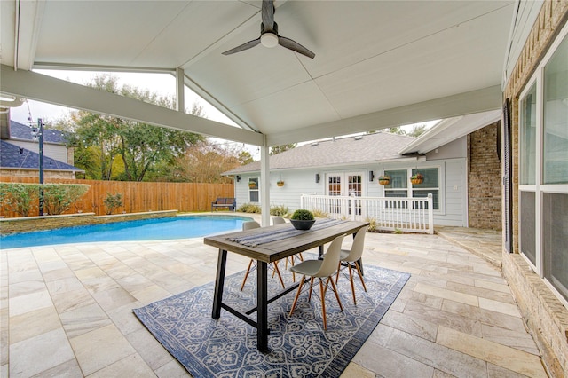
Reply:
M249 217L183 216L112 224L91 224L55 230L21 232L0 237L0 248L22 248L93 241L169 240L199 238L240 231Z

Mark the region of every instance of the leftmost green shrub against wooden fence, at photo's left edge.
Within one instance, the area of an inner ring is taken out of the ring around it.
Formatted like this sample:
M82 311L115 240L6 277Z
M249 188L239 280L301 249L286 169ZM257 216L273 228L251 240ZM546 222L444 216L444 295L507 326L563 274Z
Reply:
M7 211L28 217L39 202L39 184L0 183L0 201Z

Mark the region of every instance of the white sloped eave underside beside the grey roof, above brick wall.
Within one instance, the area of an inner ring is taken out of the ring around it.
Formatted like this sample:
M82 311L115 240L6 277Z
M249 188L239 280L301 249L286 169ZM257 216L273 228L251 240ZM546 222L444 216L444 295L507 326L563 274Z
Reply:
M424 132L420 137L415 138L413 142L407 144L401 150L398 150L398 153L426 154L499 120L501 120L501 109L447 118L438 122L434 127Z

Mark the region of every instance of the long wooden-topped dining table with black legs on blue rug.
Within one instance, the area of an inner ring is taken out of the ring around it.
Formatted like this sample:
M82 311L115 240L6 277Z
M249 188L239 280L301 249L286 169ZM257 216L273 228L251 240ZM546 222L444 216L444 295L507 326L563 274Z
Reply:
M295 290L299 285L298 282L268 298L268 264L316 247L319 248L319 256L322 256L326 243L339 235L355 234L367 225L368 222L322 219L316 221L312 229L307 231L296 230L292 224L286 223L204 238L205 244L219 248L212 318L219 319L221 309L229 311L252 327L256 327L256 347L258 350L268 351L268 304ZM223 303L227 252L247 256L257 262L256 307L248 311L237 311ZM254 312L256 320L250 317Z

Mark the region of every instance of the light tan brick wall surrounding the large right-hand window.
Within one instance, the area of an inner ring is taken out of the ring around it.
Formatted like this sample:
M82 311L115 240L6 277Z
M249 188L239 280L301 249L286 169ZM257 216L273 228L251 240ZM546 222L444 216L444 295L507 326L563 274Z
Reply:
M531 2L523 2L531 3ZM568 21L568 1L547 1L530 33L522 41L524 44L514 69L510 71L503 96L511 100L511 151L512 151L512 195L513 213L513 253L503 249L502 272L517 300L517 305L539 346L548 374L553 377L568 375L568 310L556 298L525 258L519 255L519 120L518 102L521 91L531 79L540 59L547 53L556 32ZM523 34L525 35L525 34ZM504 228L504 227L503 227Z

